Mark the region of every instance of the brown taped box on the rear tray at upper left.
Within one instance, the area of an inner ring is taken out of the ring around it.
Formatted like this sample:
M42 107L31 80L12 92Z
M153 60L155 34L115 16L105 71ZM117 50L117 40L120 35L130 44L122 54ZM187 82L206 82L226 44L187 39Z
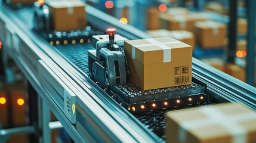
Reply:
M69 32L85 29L85 3L82 1L48 1L53 30Z

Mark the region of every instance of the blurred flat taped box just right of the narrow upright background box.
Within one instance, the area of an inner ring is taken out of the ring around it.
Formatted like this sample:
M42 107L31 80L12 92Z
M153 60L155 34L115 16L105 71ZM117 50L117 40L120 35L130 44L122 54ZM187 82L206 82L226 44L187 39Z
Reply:
M167 30L188 30L193 32L194 20L186 15L170 16L159 14L161 29Z

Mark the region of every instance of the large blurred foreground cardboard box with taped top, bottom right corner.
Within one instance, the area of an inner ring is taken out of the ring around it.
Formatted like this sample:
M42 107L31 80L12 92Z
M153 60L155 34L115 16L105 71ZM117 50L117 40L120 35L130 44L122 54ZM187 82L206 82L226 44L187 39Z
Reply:
M167 143L256 142L256 112L226 103L171 111L166 115Z

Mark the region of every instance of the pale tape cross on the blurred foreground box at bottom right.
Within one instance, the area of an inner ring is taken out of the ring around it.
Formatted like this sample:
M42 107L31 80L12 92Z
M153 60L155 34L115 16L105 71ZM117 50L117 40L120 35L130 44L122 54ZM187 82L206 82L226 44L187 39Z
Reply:
M249 112L228 116L213 107L204 107L200 108L199 110L208 118L181 123L178 136L181 142L186 141L187 129L201 128L208 125L218 124L222 125L226 130L228 130L230 135L232 135L233 143L246 143L246 130L240 126L238 122L248 119L256 119L256 114ZM232 126L229 126L230 123Z

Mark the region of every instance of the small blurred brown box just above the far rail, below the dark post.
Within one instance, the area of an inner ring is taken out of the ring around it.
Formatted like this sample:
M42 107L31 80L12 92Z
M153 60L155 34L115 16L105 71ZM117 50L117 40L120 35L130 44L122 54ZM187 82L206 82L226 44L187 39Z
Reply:
M230 76L245 82L245 69L243 67L236 64L226 64L224 71Z

